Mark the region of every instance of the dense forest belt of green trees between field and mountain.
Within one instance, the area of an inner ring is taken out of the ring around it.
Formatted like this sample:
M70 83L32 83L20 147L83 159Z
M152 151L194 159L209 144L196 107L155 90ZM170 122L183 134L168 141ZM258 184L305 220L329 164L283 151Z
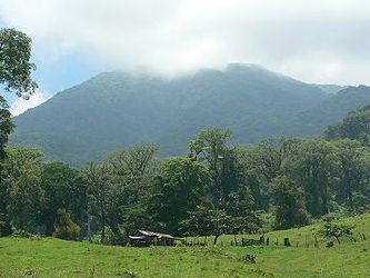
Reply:
M137 229L176 236L257 232L307 225L330 212L369 209L370 106L328 127L322 138L229 143L204 129L188 153L161 159L154 145L109 153L74 169L37 149L7 147L1 162L1 235L122 241ZM263 226L266 228L266 226ZM217 238L216 238L217 240Z

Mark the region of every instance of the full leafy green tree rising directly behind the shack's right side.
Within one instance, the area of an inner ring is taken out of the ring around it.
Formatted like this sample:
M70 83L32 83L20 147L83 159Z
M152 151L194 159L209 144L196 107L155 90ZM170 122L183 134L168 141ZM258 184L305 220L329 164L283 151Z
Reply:
M176 157L161 166L152 197L151 210L167 232L179 234L179 222L188 218L188 211L204 203L206 188L211 179L203 165L190 158Z

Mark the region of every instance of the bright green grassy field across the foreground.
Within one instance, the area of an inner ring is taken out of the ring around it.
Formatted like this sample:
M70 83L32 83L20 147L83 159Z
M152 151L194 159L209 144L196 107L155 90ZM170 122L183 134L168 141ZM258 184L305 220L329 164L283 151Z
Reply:
M332 248L323 238L313 247L322 222L267 234L268 247L230 246L234 236L222 236L216 247L150 248L0 238L0 277L370 277L370 215L341 221L357 225L357 241ZM292 247L281 246L284 237ZM244 261L247 254L256 256L256 264Z

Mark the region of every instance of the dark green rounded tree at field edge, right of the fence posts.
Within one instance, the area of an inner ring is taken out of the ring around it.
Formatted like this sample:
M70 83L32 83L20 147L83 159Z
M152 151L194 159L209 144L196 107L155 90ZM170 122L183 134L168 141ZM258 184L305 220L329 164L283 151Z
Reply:
M303 188L287 177L271 181L274 196L276 229L289 229L308 224Z

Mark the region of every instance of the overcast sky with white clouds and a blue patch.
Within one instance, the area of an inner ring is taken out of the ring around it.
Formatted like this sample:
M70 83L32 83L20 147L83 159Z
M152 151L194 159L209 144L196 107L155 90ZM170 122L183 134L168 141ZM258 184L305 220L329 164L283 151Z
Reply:
M177 75L259 63L307 82L369 85L369 0L0 0L33 39L39 97L110 69ZM14 110L18 106L18 110Z

